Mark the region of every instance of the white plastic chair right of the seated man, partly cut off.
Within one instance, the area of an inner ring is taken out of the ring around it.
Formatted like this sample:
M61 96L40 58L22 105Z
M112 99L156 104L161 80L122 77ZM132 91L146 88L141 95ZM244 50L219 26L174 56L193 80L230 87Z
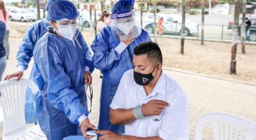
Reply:
M255 123L228 113L207 113L196 123L195 140L202 139L202 131L206 123L211 125L215 140L252 140L256 138Z

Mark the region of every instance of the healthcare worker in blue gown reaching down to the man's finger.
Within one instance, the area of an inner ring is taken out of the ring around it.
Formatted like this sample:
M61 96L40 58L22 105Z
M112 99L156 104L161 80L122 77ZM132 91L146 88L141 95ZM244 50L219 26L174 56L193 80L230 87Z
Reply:
M36 118L48 140L81 133L90 138L86 130L96 129L88 120L86 108L84 73L90 74L86 67L90 60L86 60L89 49L77 29L78 15L70 1L52 3L47 20L53 29L36 42L33 51L33 74L39 88Z

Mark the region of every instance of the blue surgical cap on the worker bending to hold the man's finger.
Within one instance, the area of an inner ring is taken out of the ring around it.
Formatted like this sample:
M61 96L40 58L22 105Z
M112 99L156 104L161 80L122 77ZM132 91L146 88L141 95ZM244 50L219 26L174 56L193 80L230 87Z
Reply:
M70 1L56 1L49 7L47 20L72 20L79 16L76 6Z

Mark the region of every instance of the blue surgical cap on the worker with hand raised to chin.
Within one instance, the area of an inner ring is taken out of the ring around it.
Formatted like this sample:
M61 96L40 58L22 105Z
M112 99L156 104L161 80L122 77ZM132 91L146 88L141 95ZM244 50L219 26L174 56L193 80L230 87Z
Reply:
M120 0L112 10L112 13L126 13L133 10L134 0Z

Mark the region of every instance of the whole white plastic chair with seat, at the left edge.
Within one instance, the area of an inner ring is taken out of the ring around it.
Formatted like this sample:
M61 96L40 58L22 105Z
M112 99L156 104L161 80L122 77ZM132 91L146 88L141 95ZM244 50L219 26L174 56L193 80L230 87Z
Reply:
M39 125L26 125L24 106L26 88L36 94L38 88L31 80L16 79L0 83L0 104L3 108L3 140L46 139Z

